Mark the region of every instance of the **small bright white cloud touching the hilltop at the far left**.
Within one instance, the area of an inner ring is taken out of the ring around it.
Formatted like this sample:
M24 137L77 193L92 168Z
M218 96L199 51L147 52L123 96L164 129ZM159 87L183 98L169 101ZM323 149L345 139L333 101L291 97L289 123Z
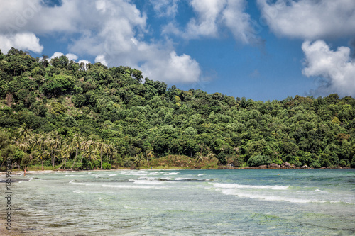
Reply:
M43 46L40 45L40 39L35 37L34 33L16 33L16 34L0 34L0 49L4 53L8 52L11 47L19 50L29 50L40 53Z

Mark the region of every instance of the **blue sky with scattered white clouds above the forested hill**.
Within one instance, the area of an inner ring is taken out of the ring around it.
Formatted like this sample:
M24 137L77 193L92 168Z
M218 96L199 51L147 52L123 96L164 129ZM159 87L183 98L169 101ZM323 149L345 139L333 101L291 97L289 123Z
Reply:
M1 0L0 49L253 100L355 96L354 0ZM353 43L351 43L353 42Z

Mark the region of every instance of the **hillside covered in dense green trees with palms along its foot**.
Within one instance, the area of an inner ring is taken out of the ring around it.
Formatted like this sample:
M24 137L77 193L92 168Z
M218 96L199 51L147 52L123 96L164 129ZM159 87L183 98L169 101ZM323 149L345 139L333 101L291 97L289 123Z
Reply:
M263 102L182 91L137 69L12 48L0 52L0 99L3 165L140 167L180 154L207 165L355 167L351 96Z

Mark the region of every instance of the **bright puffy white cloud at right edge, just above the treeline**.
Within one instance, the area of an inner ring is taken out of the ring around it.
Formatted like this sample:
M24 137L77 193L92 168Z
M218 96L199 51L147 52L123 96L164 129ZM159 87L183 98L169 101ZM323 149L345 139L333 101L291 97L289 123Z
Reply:
M323 40L302 44L306 67L302 73L307 77L322 77L322 84L315 94L355 96L355 61L350 56L349 47L331 50Z

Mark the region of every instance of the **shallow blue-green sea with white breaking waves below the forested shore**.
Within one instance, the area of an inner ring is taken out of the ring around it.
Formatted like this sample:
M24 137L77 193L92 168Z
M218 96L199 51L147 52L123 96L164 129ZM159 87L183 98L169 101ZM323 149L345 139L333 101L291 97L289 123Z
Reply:
M28 235L355 235L355 169L12 178L12 223Z

